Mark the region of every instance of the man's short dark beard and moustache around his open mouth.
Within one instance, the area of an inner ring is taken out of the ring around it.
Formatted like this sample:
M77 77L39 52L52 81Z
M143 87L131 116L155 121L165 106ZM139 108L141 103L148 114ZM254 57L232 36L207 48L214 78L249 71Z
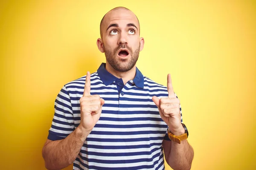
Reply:
M113 69L119 72L126 72L131 70L136 64L140 54L140 45L134 52L126 44L122 44L116 47L113 50L113 53L112 51L107 50L104 45L103 45L103 48L105 51L106 60L108 61L108 63L111 65ZM127 48L131 57L128 59L119 59L117 55L120 48Z

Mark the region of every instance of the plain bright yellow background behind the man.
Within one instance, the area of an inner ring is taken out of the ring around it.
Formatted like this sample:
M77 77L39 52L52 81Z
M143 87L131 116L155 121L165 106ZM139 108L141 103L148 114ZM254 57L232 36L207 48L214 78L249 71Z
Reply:
M55 97L105 62L99 23L116 6L140 20L140 71L163 85L172 74L195 151L192 170L256 169L252 0L1 1L0 169L45 169Z

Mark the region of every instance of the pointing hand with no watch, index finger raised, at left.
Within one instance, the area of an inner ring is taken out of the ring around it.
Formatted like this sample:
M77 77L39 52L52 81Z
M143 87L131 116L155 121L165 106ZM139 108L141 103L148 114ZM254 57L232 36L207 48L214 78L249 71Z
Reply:
M87 72L84 94L80 98L81 122L83 130L91 131L99 120L105 100L99 95L90 95L90 72Z

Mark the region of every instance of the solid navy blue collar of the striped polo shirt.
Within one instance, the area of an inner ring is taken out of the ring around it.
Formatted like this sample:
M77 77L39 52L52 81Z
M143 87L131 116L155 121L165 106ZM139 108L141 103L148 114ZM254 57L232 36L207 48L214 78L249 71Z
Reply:
M116 79L118 78L113 76L111 73L109 73L105 67L106 67L106 63L102 62L102 64L99 66L97 70L97 73L99 75L99 78L102 80L102 82L105 85L110 85L112 82L116 81ZM133 82L138 88L144 88L144 77L137 67L136 67L136 74L133 79Z

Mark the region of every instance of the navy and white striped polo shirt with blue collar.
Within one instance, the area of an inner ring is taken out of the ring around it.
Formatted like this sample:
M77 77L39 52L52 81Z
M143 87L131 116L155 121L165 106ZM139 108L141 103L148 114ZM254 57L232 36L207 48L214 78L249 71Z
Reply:
M59 92L48 139L64 139L80 124L79 99L85 78L67 83ZM162 142L169 140L168 127L152 96L168 97L167 88L143 76L138 68L134 79L124 85L106 71L105 63L91 74L90 81L90 94L98 94L105 104L73 170L163 170Z

